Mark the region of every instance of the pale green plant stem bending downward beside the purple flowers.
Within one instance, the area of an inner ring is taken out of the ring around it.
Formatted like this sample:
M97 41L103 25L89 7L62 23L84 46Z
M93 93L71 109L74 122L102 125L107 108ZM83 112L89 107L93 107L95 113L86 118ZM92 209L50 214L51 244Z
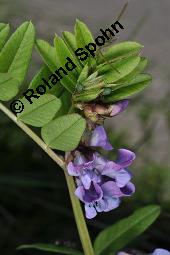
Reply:
M51 150L42 140L37 136L27 125L17 119L17 117L8 110L2 103L0 103L0 110L4 112L15 124L20 127L35 143L37 143L48 155L52 158L63 170L68 185L70 199L73 207L75 221L79 232L80 240L85 255L94 255L93 247L91 244L90 236L82 212L82 208L79 200L74 195L75 183L73 177L69 176L66 172L65 162L63 158L58 156L53 150Z

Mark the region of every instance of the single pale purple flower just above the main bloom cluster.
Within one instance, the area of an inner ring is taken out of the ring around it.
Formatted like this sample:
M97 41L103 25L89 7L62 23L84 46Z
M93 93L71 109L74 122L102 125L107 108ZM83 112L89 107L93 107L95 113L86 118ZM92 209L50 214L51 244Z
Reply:
M107 151L113 149L112 145L108 141L106 131L102 126L97 126L93 131L90 139L90 146L102 147Z

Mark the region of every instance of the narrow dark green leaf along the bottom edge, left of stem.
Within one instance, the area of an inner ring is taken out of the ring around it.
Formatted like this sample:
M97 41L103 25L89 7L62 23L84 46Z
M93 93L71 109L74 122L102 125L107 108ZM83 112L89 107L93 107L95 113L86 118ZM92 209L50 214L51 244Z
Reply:
M22 249L36 249L40 251L54 252L56 254L83 255L80 251L72 248L52 244L25 244L18 247L18 250Z

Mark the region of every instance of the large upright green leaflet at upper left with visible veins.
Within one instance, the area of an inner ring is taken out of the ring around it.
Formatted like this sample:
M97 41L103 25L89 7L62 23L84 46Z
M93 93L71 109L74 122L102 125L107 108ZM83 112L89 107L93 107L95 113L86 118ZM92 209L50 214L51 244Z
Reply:
M0 53L0 72L10 73L20 84L30 63L34 37L34 26L31 22L25 22L13 33Z

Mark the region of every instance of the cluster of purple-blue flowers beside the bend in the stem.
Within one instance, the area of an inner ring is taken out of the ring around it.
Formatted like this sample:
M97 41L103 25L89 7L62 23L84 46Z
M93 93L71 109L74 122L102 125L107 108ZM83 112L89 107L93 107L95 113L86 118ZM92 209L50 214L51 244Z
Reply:
M124 110L124 102L119 103L120 105ZM113 149L103 126L95 126L90 134L86 136L83 149L74 151L72 160L67 164L69 175L76 178L75 195L85 204L88 219L94 218L97 212L108 212L117 208L121 197L135 192L128 170L135 154L130 150L119 149L117 159L108 160L95 150L96 147L107 151Z

